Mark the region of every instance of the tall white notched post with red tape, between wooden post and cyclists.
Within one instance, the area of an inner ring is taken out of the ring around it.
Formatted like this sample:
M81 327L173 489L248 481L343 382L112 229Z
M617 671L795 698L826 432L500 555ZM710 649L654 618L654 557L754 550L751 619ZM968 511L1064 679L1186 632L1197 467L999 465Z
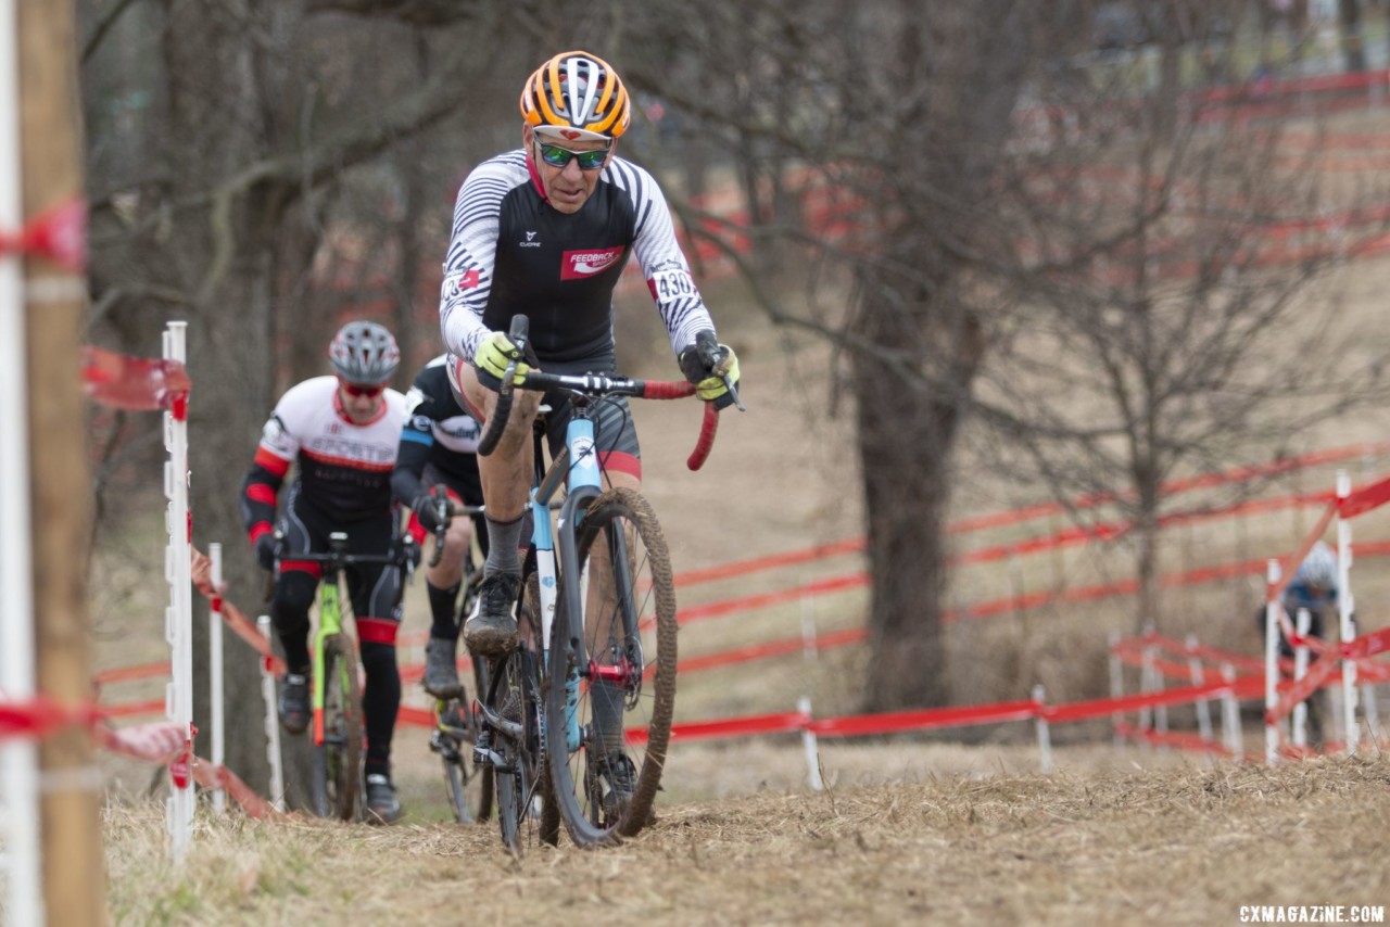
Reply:
M164 359L183 363L188 322L170 322L164 331ZM170 543L165 574L170 582L167 635L174 680L167 696L168 717L183 731L188 749L171 767L167 824L175 862L183 859L193 830L193 780L189 776L193 739L193 575L188 507L188 421L181 410L164 413L164 446L170 459L164 468L168 498ZM175 770L178 770L177 774Z

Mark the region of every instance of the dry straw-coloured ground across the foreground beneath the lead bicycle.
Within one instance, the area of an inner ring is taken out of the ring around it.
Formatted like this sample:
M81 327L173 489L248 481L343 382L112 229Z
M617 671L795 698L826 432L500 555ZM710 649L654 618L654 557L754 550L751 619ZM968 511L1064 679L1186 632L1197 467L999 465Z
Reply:
M1248 905L1383 921L1387 828L1376 756L769 792L523 859L491 827L210 826L178 874L147 862L157 817L115 812L108 860L132 924L1232 924Z

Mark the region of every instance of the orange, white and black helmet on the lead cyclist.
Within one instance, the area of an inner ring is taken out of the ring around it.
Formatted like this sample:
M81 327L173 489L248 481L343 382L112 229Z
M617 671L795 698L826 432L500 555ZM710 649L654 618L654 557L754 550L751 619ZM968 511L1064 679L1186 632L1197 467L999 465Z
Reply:
M521 118L552 140L607 142L627 132L632 103L606 61L588 51L564 51L527 79Z

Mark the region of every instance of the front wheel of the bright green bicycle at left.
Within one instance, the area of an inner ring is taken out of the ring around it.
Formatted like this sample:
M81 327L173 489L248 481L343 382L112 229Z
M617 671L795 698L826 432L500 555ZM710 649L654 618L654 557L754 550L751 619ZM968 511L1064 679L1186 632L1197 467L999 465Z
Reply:
M314 709L314 813L350 821L361 788L361 691L357 650L345 634L324 639L322 687Z

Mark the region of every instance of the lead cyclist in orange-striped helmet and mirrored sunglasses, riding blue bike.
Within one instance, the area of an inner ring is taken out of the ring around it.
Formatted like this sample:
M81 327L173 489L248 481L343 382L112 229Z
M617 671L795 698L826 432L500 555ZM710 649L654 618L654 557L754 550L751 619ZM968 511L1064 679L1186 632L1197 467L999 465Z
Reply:
M613 288L632 257L685 377L702 399L731 404L709 360L714 322L691 279L666 199L651 174L617 157L631 113L623 81L595 56L566 51L527 78L520 108L521 147L480 164L455 204L439 315L450 381L464 407L480 421L492 414L500 378L517 357L506 335L516 314L531 320L539 368L614 372ZM737 384L733 352L726 363L720 372ZM541 402L539 393L518 391L496 450L478 460L489 550L478 607L463 631L474 655L516 643L517 548ZM552 407L546 428L553 450L563 445L569 404L563 396L543 402ZM606 485L638 486L637 431L626 400L603 403L596 431ZM612 699L594 699L594 725L607 753L620 756L621 689L612 688ZM621 777L623 770L613 771Z

